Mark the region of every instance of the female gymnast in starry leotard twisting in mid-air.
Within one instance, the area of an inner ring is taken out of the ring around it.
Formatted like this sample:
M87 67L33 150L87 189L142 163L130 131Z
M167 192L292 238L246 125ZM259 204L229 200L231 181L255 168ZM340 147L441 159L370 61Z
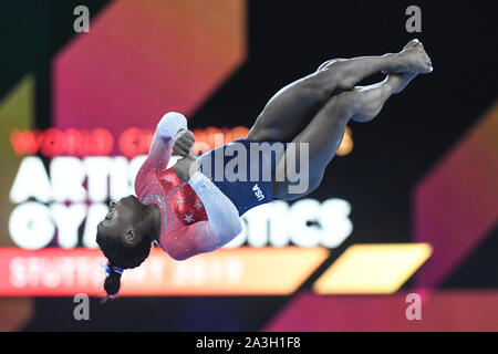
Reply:
M198 157L190 156L195 138L185 116L165 114L136 176L136 197L111 202L108 214L97 226L96 241L108 260L104 283L107 294L118 292L123 270L138 267L148 257L153 242L175 260L210 252L241 232L239 218L247 210L313 191L339 148L347 122L373 119L391 95L402 92L416 75L432 71L430 59L418 40L408 42L398 53L326 61L274 94L247 138ZM376 73L385 74L385 80L356 86ZM281 154L270 149L268 156L263 153L258 155L260 158L247 158L246 170L239 173L250 174L251 178L214 178L214 169L216 173L219 167L234 165L232 159L237 158L237 154L227 150L238 144L249 152L249 145L255 143L270 147L283 144L284 148ZM303 146L308 153L308 170L301 174L307 176L305 189L298 192L291 188L295 180L276 178L277 171L286 170L290 145L292 158L302 156ZM173 152L181 158L167 168ZM271 169L271 178L261 178L258 173L255 180L251 171L264 173L266 168Z

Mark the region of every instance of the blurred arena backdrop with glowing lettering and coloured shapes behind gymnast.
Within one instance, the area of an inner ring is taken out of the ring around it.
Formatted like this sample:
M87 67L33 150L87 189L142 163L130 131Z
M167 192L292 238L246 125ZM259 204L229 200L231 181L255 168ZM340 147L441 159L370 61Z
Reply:
M0 330L497 331L496 13L419 1L422 32L408 33L411 4L1 2ZM95 226L133 192L164 113L214 146L325 60L413 38L434 72L350 124L318 190L251 210L225 249L153 252L101 303ZM76 293L89 321L73 316ZM411 293L422 320L405 315Z

